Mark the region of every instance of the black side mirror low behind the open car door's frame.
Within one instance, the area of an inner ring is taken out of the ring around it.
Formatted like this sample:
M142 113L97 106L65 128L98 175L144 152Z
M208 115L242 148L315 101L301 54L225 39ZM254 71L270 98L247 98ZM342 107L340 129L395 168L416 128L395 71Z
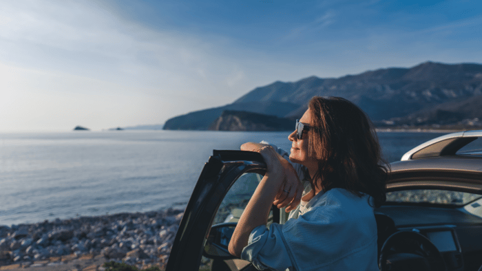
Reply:
M210 259L235 259L228 251L229 241L233 236L235 222L221 223L211 228L206 240L204 257Z

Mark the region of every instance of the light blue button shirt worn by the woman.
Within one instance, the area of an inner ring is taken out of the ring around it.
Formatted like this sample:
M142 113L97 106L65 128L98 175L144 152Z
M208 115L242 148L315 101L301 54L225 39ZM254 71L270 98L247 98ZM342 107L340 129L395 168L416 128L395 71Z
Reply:
M254 228L241 259L258 270L378 270L368 199L342 188L321 191L291 211L286 224Z

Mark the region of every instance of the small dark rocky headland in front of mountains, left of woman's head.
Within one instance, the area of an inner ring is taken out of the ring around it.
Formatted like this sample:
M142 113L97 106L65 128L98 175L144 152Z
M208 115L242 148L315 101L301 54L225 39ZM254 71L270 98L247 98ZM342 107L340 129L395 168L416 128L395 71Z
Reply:
M209 127L213 131L290 131L295 120L247 111L223 111Z

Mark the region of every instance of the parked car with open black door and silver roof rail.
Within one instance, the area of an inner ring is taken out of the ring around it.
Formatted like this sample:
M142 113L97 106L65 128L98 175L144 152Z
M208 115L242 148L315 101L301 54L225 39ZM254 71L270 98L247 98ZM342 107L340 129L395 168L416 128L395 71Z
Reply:
M375 208L380 270L481 268L480 141L482 131L442 135L390 164L387 201ZM254 270L227 245L265 171L259 153L213 151L180 222L167 271ZM284 221L286 213L273 206L269 223Z

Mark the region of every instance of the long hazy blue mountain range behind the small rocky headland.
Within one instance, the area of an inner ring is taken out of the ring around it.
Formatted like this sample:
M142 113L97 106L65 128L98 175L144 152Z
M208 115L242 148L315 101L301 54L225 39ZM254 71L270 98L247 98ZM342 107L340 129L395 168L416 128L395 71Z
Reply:
M377 126L420 126L482 120L482 65L426 62L340 78L310 76L257 87L229 105L167 120L164 129L207 130L223 111L300 118L313 96L339 96L362 108Z

